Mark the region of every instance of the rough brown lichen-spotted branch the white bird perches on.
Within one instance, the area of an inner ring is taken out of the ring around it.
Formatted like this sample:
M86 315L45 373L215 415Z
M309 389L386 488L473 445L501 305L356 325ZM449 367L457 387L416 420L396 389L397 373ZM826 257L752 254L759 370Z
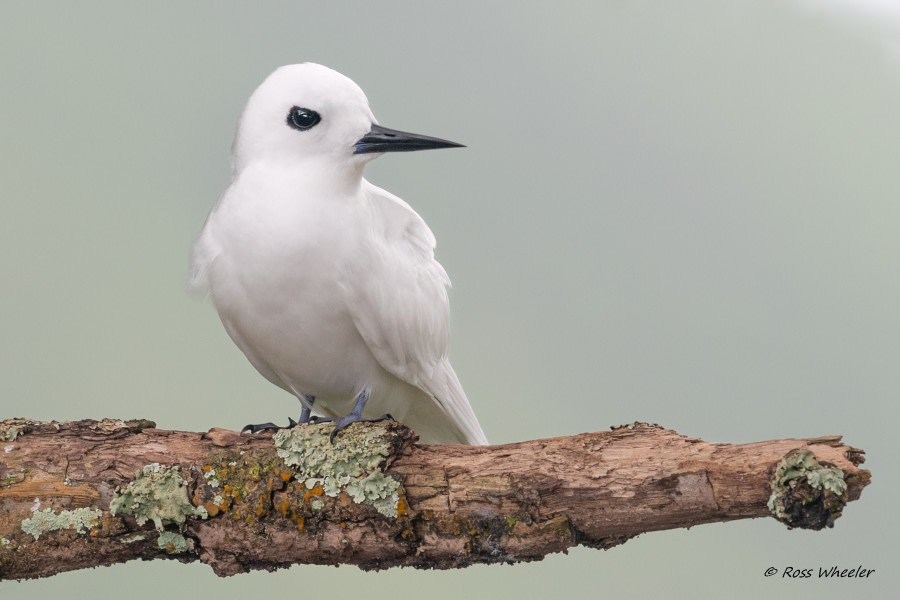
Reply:
M333 449L358 468L328 475L315 471L330 460L328 427L273 440L144 420L0 422L0 579L136 558L200 560L219 575L445 569L732 519L820 529L870 481L840 436L716 444L643 423L490 447L420 446L398 423L355 424Z

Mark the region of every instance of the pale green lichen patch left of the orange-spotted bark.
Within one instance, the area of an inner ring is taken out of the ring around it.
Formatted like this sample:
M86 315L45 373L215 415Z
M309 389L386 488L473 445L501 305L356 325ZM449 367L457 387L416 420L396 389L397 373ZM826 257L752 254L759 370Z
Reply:
M131 515L138 525L153 521L158 531L167 524L183 525L187 517L208 516L188 499L187 481L179 467L163 467L159 463L147 465L134 474L134 481L124 490L117 489L109 503L112 514Z

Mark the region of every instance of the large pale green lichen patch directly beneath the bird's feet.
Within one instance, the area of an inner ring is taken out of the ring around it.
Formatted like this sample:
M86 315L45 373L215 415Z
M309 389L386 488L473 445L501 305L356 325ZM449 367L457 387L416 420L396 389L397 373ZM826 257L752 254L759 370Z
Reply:
M328 424L281 429L274 436L278 456L297 469L295 478L308 489L320 485L332 498L343 490L357 504L368 504L387 517L396 517L400 482L381 470L390 455L387 429L352 425L333 444L331 430ZM318 510L324 506L318 504L312 507Z

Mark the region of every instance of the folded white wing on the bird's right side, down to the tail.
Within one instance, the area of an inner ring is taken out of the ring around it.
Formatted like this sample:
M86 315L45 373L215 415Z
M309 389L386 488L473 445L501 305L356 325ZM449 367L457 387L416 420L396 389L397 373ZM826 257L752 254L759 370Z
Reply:
M487 444L447 359L450 278L434 259L434 234L406 202L368 181L363 186L375 250L353 265L344 285L353 321L386 371L433 399L454 437Z

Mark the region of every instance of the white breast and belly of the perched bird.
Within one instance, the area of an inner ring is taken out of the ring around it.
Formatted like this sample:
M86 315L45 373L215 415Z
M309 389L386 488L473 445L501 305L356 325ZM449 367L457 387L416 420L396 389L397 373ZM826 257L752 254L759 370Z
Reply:
M210 295L267 379L343 414L382 377L340 301L348 261L366 251L366 211L289 176L247 169L210 215Z

